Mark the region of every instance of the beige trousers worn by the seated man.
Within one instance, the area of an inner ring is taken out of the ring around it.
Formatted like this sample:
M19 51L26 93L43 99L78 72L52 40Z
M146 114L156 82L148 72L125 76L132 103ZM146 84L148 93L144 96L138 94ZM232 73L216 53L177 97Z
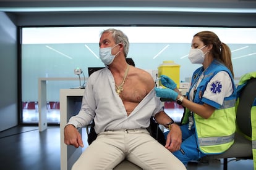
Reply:
M142 169L186 169L147 129L124 129L101 132L72 170L113 169L125 158Z

